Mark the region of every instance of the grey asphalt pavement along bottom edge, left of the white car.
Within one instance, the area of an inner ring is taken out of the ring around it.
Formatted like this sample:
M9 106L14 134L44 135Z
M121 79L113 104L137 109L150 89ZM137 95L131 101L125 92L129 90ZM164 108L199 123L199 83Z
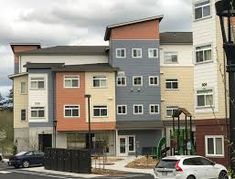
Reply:
M74 176L65 176L65 175L57 175L57 174L47 174L40 172L32 172L32 171L23 171L20 169L15 169L7 166L7 164L0 162L0 179L84 179L82 177L74 177ZM137 173L129 173L124 176L115 176L115 177L96 177L95 179L154 179L152 175L148 174L137 174Z

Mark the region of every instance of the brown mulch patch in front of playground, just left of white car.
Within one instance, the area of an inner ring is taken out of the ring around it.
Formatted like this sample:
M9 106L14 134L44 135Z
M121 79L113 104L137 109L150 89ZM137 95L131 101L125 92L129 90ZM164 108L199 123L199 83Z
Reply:
M141 157L136 159L130 163L128 163L125 167L127 168L137 168L137 169L152 169L159 161L152 157Z

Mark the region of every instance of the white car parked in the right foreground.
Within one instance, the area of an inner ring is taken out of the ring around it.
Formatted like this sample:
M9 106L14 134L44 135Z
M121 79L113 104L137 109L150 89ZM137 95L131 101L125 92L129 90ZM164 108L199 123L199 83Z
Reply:
M167 179L228 179L227 169L202 156L168 156L155 166L156 178Z

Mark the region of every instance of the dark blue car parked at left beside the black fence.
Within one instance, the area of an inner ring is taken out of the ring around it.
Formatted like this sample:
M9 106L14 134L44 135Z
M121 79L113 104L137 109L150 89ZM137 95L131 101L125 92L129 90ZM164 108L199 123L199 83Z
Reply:
M8 165L19 168L20 166L27 168L29 166L43 165L44 153L40 151L23 151L10 157Z

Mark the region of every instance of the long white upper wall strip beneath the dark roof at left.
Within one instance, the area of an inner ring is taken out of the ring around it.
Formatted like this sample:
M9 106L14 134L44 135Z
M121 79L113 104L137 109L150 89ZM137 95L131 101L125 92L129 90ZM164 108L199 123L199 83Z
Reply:
M24 55L20 57L20 72L25 72L23 67L27 62L30 63L65 63L66 65L80 65L93 63L108 63L108 57L103 55Z

